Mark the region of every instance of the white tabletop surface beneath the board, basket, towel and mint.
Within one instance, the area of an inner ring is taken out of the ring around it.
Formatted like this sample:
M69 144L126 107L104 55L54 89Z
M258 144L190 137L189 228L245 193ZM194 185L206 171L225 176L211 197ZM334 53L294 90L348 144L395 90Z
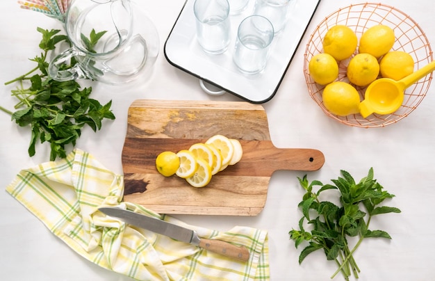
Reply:
M435 88L411 115L381 129L361 129L342 125L328 118L313 102L303 76L303 54L309 34L327 15L350 3L366 1L322 0L297 50L277 95L263 104L270 122L270 134L277 147L311 147L321 150L325 166L309 172L309 179L329 182L340 169L356 179L365 176L370 167L375 178L395 194L389 205L402 209L402 214L380 216L372 221L393 236L391 241L367 239L355 253L361 268L359 280L432 280L435 264L433 239L435 201ZM92 153L111 170L121 173L120 155L126 131L126 112L134 99L240 100L231 95L213 97L199 87L198 79L172 67L163 56L167 35L183 6L181 0L140 1L156 24L161 36L161 54L153 77L136 86L94 86L93 97L101 102L113 99L114 122L106 122L94 134L85 129L77 147ZM420 24L429 42L435 42L433 15L429 0L385 0L406 12ZM28 58L38 54L40 34L44 29L59 28L53 19L19 9L16 1L2 1L0 17L0 103L13 108L12 86L3 82L33 67ZM27 154L30 131L19 128L8 115L0 112L0 272L2 280L130 280L106 271L76 255L51 234L40 221L13 199L4 188L22 170L48 160L49 149L38 145L37 155ZM261 165L261 163L258 163ZM299 250L288 239L288 231L297 227L301 216L297 204L302 188L297 177L305 172L274 173L264 210L255 217L177 216L186 223L228 230L234 225L247 225L268 230L271 280L329 280L336 270L322 252L311 254L299 266ZM340 280L340 277L337 278Z

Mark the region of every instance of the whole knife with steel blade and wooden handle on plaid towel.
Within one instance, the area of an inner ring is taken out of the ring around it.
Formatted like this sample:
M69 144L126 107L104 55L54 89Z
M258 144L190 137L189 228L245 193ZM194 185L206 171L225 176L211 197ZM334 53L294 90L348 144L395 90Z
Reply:
M101 207L99 208L99 211L108 216L120 218L130 225L136 225L145 230L169 236L177 241L190 243L226 257L238 259L242 262L247 262L249 259L249 250L245 247L238 247L222 240L199 238L195 230L189 230L186 227L167 223L165 220L151 218L149 216L116 207Z

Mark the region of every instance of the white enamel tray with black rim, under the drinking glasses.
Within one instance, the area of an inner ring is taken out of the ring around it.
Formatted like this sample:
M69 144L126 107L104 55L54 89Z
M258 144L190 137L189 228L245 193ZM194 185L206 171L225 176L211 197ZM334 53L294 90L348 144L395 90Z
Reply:
M199 79L222 88L248 102L268 102L277 93L302 36L305 33L320 0L293 0L288 11L288 22L272 42L268 65L258 74L243 74L233 63L233 47L237 29L245 17L252 15L254 0L240 15L230 16L231 42L223 54L206 54L196 38L195 0L187 0L165 42L167 61Z

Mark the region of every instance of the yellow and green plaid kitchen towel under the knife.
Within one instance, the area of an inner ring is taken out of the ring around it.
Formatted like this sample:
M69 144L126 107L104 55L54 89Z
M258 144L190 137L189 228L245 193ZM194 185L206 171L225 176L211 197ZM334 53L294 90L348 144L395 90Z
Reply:
M122 175L110 172L82 150L22 170L6 191L82 257L136 280L270 279L267 232L240 226L218 232L122 202ZM102 214L99 207L129 209L189 227L204 238L246 246L249 261L238 262L126 225Z

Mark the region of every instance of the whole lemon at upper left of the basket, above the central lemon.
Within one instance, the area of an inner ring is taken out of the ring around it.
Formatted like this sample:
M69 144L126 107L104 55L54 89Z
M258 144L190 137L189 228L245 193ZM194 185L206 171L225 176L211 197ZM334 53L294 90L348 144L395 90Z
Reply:
M343 61L354 54L358 38L349 26L338 24L332 26L323 38L323 51L337 61Z

